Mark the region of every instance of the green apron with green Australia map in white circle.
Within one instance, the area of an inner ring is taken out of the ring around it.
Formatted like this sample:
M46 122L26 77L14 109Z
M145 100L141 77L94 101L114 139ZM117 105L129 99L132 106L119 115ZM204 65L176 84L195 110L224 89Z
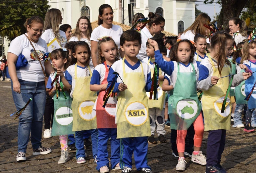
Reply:
M201 112L201 103L197 97L196 72L180 72L179 63L177 80L173 89L170 114L171 129L188 130Z

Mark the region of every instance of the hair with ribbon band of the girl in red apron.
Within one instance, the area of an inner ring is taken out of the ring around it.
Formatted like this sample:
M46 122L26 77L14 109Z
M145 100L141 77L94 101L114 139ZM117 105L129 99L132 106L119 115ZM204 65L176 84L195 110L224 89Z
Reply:
M101 56L102 55L102 44L103 43L113 43L113 45L115 46L116 49L116 56L115 56L115 61L119 60L119 50L118 50L118 46L115 44L115 41L113 40L113 38L111 38L110 36L105 36L99 39L98 41L98 64L104 63L105 62L105 57Z

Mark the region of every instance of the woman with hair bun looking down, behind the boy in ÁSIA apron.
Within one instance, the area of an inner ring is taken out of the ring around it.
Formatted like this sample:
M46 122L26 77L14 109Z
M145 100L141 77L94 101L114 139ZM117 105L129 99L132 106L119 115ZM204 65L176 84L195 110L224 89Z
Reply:
M147 57L146 53L146 42L149 38L152 38L154 34L160 34L161 31L164 30L165 20L163 16L149 12L148 16L149 22L147 23L147 26L145 26L141 30L141 50L139 54L137 55L137 58L140 60L143 60Z

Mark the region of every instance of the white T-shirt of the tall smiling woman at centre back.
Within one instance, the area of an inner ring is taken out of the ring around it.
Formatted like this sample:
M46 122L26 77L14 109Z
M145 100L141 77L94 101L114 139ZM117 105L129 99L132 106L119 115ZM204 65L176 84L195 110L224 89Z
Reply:
M115 41L115 44L120 47L120 37L123 34L123 29L118 25L113 25L112 28L107 29L104 28L102 25L99 25L97 28L95 28L92 32L90 40L93 41L99 41L98 38L102 36L110 36Z

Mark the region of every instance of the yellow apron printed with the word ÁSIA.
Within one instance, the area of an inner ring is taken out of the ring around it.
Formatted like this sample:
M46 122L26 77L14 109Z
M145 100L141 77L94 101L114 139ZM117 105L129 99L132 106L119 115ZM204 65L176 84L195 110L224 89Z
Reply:
M118 95L116 105L117 138L149 137L150 123L148 101L145 91L145 76L142 72L125 72L123 58L123 81L128 89Z

